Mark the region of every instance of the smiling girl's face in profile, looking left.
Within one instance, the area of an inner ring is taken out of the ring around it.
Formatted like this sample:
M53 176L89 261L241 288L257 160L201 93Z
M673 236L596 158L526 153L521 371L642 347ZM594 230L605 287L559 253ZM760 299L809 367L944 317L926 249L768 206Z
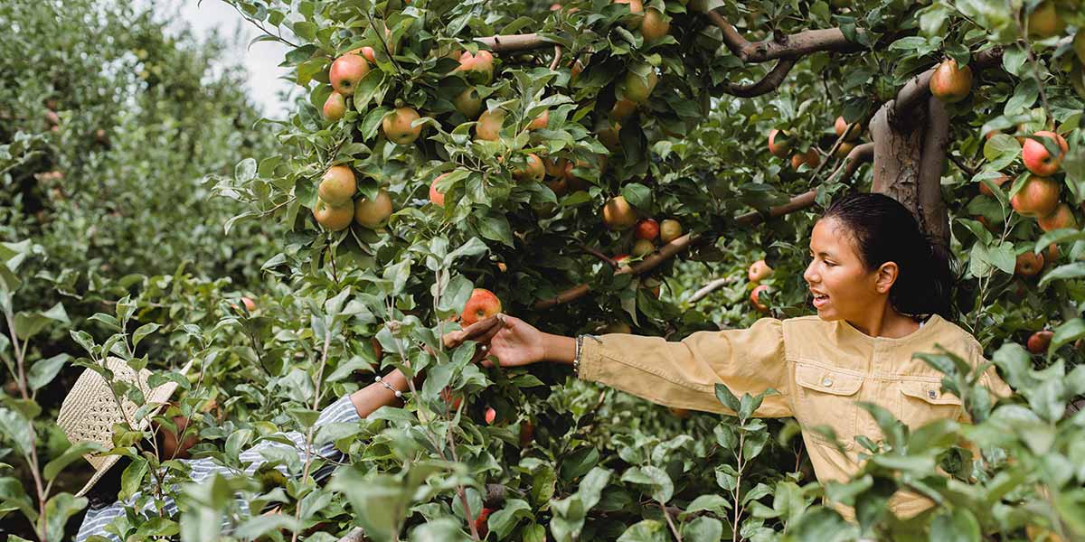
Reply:
M878 270L867 270L851 232L840 220L818 220L810 234L810 256L803 279L821 320L860 322L883 302L888 289L879 293Z

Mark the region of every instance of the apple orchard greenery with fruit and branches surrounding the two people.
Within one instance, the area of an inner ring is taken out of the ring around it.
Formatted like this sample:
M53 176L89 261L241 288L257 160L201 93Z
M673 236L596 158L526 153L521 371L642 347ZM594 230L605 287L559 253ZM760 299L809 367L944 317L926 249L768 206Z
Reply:
M13 540L77 529L87 449L53 420L106 354L155 382L196 362L158 416L191 420L193 456L237 465L297 429L350 460L323 485L290 463L148 492L182 512L123 518L128 540L1085 538L1078 2L228 3L291 48L285 121L259 119L238 69L207 69L222 43L165 38L126 2L0 5ZM474 288L566 335L809 313L807 235L850 189L948 243L959 323L1018 393L995 405L961 360L926 357L976 423L909 430L871 406L884 439L860 442L850 483L817 483L793 421L750 417L760 398L669 410L437 340ZM641 238L648 219L663 238ZM427 374L404 408L309 430L391 366ZM116 440L123 494L183 476L146 437ZM898 488L939 504L898 520ZM279 513L245 517L235 493Z

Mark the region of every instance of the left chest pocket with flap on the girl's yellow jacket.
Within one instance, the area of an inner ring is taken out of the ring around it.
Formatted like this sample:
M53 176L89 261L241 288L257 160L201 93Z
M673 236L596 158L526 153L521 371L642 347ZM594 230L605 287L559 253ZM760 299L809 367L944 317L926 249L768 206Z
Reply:
M795 417L803 434L812 440L832 446L831 439L814 430L827 426L837 434L844 450L855 447L858 409L855 400L863 377L833 369L805 363L795 364Z

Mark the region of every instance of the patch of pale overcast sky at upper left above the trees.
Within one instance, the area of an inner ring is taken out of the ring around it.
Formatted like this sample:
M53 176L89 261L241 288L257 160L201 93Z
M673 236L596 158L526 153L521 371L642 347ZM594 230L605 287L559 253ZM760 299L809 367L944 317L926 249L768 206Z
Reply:
M284 118L286 107L277 96L282 90L291 90L291 83L280 79L286 69L279 67L286 46L278 41L261 41L245 49L253 38L259 35L259 29L246 22L233 8L221 0L167 0L155 2L154 5L166 4L169 9L180 10L180 20L191 25L194 34L200 37L218 29L219 35L230 40L240 37L235 54L248 72L248 91L253 101L264 109L265 116Z

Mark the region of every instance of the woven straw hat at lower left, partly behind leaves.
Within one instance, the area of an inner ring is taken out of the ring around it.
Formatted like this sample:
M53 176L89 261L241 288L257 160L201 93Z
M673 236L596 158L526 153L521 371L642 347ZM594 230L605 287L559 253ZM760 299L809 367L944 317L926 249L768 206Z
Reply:
M64 430L68 441L73 444L97 442L102 444L106 450L112 450L113 424L124 423L128 420L132 423L132 429L138 431L143 430L151 423L151 416L163 404L169 401L169 397L177 389L177 383L175 382L167 382L154 389L150 389L146 380L151 376L151 372L144 369L137 373L120 358L106 358L105 366L113 372L113 379L115 382L126 382L138 386L140 391L143 392L146 403L151 405L151 411L142 420L136 421L135 416L138 410L136 403L126 397L120 397L120 404L124 405L124 411L122 411L117 406L117 398L114 396L108 383L105 382L105 378L94 370L88 369L82 372L79 379L76 380L75 386L72 387L72 391L64 398L64 402L61 404L61 412L56 417L56 425ZM187 373L190 366L192 366L191 361L181 367L180 373ZM81 496L94 483L98 483L98 480L105 475L110 467L120 460L120 455L88 453L84 455L84 459L94 467L94 475L76 493L76 496Z

